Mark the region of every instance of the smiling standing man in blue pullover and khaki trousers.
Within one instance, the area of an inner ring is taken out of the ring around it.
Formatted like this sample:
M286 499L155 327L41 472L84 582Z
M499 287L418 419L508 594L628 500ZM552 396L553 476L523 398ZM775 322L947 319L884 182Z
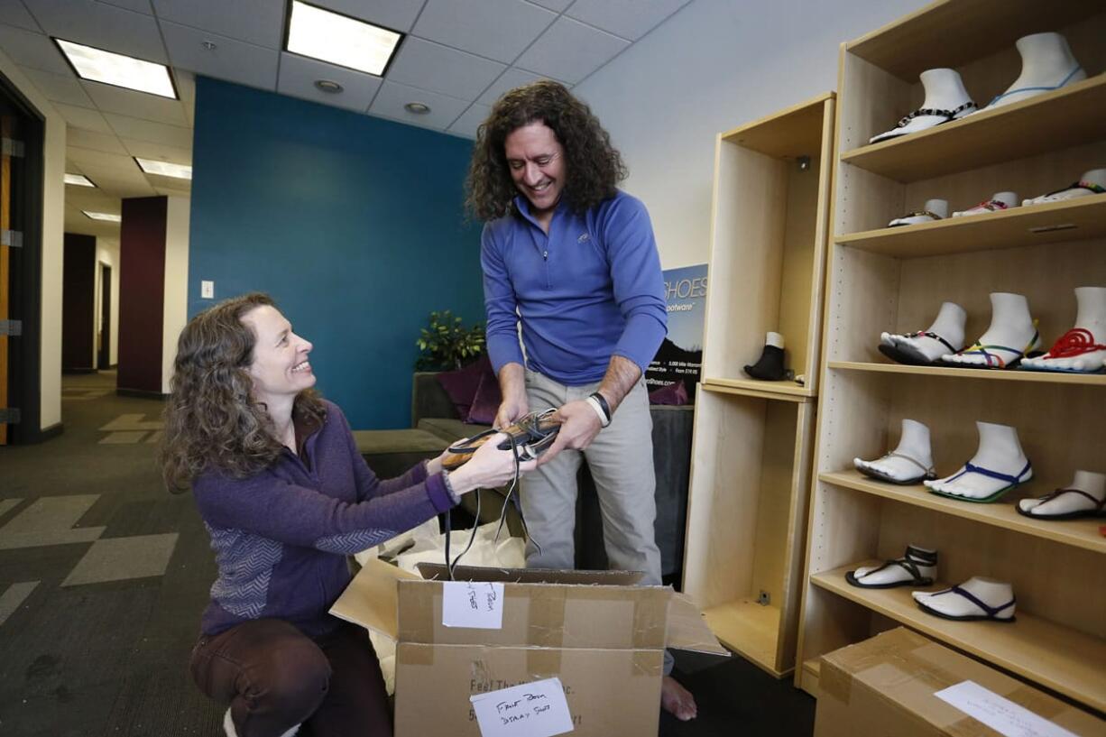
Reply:
M555 82L536 82L504 94L480 127L468 205L487 221L488 353L503 392L495 426L550 407L562 421L522 482L528 565L573 568L576 471L586 458L611 565L659 584L643 373L667 332L664 278L645 206L616 188L625 176L588 107ZM661 705L691 719L695 698L671 664L666 652Z

